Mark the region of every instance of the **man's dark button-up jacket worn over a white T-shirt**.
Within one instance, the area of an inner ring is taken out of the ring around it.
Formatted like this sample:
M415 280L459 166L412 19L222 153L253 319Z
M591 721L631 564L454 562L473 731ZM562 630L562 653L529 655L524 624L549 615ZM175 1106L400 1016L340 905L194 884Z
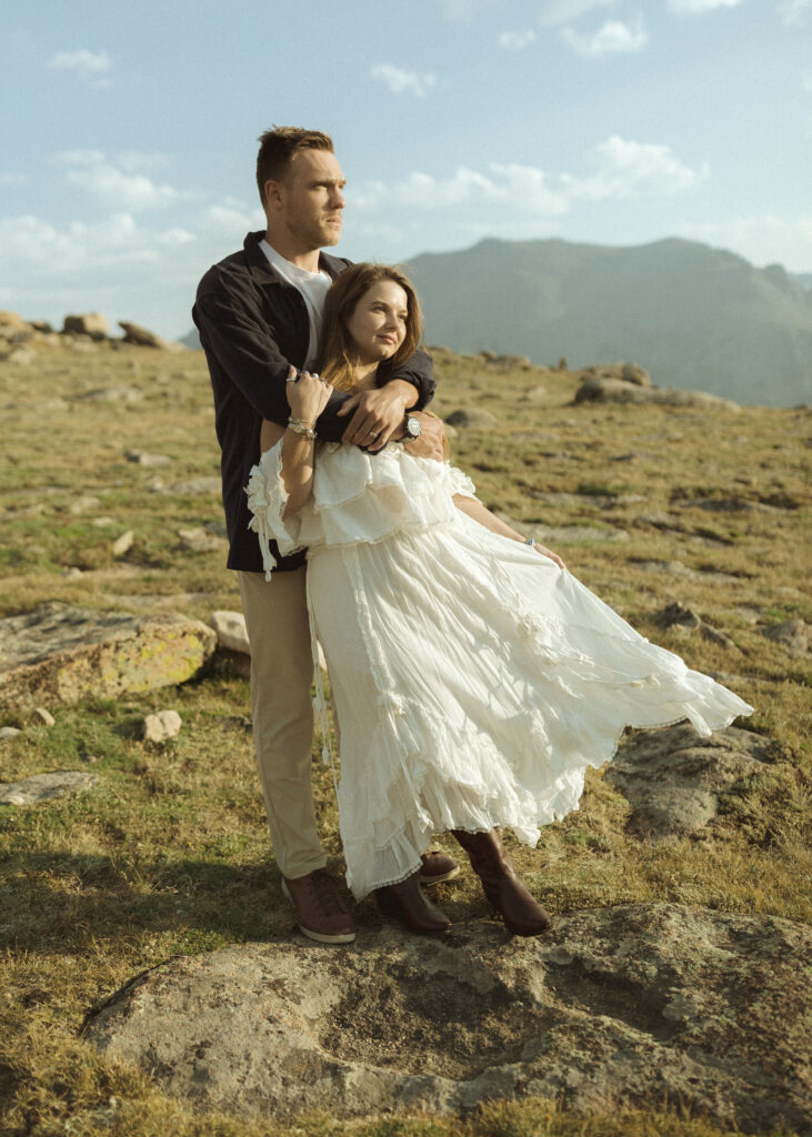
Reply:
M222 450L223 505L229 531L229 568L262 572L256 533L248 529L250 513L245 487L259 460L263 418L283 426L290 414L284 393L288 366L303 367L309 345L307 306L297 288L284 281L259 248L264 232L249 233L242 251L221 260L198 285L192 317L200 332L214 388L217 439ZM333 280L350 264L322 252L318 267ZM431 358L423 351L384 376L407 380L417 389L416 409L434 392ZM349 420L337 412L348 399L334 392L318 417L321 439L339 442ZM297 568L304 553L280 557L280 570Z

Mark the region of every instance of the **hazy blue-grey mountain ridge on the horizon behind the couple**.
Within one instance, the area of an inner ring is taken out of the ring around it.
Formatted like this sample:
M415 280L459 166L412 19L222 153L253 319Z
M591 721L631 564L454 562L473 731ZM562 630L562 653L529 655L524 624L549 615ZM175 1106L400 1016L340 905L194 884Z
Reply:
M812 397L812 293L780 265L677 238L633 248L486 239L409 262L429 341L571 367L633 359L662 387Z

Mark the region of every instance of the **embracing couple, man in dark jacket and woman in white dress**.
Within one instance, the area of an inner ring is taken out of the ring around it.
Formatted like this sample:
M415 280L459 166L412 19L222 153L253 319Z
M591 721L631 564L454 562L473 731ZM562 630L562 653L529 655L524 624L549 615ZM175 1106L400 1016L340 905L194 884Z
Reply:
M752 708L640 637L445 460L411 282L321 251L345 206L330 138L266 132L257 185L267 229L209 269L193 315L283 891L312 939L355 937L310 788L318 641L355 897L374 893L414 931L447 931L424 888L458 872L429 850L450 830L507 928L538 935L549 916L499 827L535 845L578 807L587 766L612 757L625 725L687 717L707 735Z

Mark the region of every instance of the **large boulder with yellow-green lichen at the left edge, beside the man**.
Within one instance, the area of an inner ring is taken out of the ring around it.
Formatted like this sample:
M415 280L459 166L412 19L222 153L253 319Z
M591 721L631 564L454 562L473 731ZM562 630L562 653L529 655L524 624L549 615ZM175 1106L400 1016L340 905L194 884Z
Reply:
M116 698L182 683L210 659L199 620L43 604L0 620L0 708Z

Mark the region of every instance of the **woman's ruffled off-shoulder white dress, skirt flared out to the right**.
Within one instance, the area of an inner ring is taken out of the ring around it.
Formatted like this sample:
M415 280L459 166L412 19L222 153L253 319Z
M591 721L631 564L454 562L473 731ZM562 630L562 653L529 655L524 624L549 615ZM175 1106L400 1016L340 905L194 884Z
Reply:
M569 571L462 513L453 495L474 487L448 463L320 445L313 496L284 521L280 467L281 443L251 472L250 525L266 574L270 540L307 548L356 897L413 873L441 830L508 825L535 845L627 725L689 719L709 735L752 712Z

